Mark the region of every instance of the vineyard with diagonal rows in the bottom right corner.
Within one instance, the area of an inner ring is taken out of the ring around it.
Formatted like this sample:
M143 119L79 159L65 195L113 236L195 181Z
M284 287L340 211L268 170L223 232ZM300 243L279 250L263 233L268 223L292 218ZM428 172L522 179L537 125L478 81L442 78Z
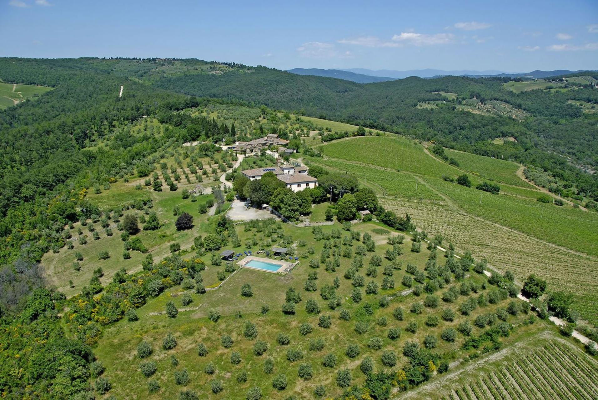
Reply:
M595 399L596 361L551 334L540 336L533 338L538 345L527 343L502 350L490 362L479 361L405 398ZM428 387L431 390L426 390Z

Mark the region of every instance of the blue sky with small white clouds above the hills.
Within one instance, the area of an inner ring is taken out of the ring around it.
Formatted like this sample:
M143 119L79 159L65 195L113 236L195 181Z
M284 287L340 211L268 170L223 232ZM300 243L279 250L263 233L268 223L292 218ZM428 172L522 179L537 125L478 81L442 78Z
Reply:
M289 68L598 69L598 1L0 0L0 56Z

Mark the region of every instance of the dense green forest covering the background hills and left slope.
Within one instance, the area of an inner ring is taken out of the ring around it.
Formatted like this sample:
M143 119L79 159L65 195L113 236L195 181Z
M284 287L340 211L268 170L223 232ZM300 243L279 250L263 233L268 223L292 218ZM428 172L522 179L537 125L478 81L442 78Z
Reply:
M213 120L178 113L183 109L266 105L401 133L544 169L582 196L598 199L596 175L579 168L595 170L598 164L598 119L568 103L598 102L598 91L587 87L512 93L499 79L460 77L364 85L261 66L157 59L7 58L0 59L0 79L55 88L35 102L0 111L0 337L7 350L0 360L0 388L23 387L12 398L51 398L50 386L54 395L68 398L87 386L93 354L65 337L59 325L65 298L44 288L38 262L53 246L64 245L65 224L97 211L83 199L78 209L69 201L81 188L132 173L173 143L224 138ZM443 100L432 93L437 91L457 97L435 109L417 108ZM530 116L518 121L457 108L473 97L499 100ZM144 115L166 123L164 135L122 132L94 146ZM509 137L516 142L491 142Z

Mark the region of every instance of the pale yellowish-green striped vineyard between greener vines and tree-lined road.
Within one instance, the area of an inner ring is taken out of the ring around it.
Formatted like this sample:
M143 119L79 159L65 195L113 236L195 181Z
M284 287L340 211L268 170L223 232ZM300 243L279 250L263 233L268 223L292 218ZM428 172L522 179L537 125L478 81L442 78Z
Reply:
M572 292L573 308L584 319L598 323L598 278L593 272L598 271L598 261L595 258L539 242L450 206L399 199L380 199L380 203L399 215L409 213L417 227L428 234L442 234L447 242L486 258L493 267L503 272L513 271L521 281L530 273L536 273L548 281L551 289Z

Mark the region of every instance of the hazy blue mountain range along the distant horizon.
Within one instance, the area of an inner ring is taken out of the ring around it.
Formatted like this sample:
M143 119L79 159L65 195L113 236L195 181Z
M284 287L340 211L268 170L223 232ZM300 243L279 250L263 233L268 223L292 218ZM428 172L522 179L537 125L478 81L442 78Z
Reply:
M392 81L396 79L403 79L407 77L420 78L439 78L446 75L455 75L459 77L509 77L509 78L546 78L557 77L560 75L576 74L577 72L587 71L580 69L578 71L569 71L568 69L556 69L554 71L536 71L532 72L502 72L502 71L470 71L462 69L459 71L443 71L441 69L411 69L410 71L393 71L391 69L366 69L366 68L349 68L349 69L319 69L319 68L294 68L289 69L288 72L298 75L316 75L318 77L338 78L356 83L374 83L383 81Z

